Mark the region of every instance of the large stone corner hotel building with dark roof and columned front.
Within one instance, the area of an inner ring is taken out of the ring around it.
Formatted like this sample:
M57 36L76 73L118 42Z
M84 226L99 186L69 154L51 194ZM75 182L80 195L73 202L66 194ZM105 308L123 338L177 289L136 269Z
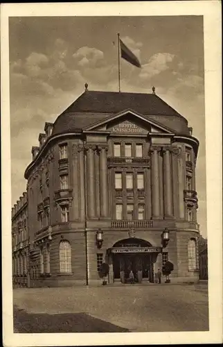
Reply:
M86 89L45 124L25 171L30 286L100 284L102 262L109 284L131 269L154 282L168 260L171 282L199 280L198 146L156 94Z

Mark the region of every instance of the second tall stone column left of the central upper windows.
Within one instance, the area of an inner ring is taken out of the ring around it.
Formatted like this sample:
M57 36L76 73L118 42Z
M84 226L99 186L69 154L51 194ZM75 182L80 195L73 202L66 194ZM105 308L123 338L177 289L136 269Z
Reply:
M95 189L95 168L94 151L96 146L88 145L87 150L87 215L89 218L96 217L96 189Z

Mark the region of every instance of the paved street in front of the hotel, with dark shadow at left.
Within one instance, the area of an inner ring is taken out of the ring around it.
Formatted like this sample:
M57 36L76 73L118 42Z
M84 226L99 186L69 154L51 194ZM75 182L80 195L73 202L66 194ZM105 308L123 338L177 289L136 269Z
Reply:
M205 283L21 288L13 290L13 303L19 332L208 330Z

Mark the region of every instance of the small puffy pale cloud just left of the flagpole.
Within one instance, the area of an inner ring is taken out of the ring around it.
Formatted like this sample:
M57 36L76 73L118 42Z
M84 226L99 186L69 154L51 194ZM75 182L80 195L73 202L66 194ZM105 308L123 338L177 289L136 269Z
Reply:
M78 60L80 66L94 66L104 58L104 53L96 48L87 46L81 47L73 54L73 58Z

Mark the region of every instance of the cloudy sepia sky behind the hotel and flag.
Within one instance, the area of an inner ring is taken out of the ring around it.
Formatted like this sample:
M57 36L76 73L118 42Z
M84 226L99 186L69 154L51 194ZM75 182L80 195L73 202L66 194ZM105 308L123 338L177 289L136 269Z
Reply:
M55 121L84 83L118 92L117 33L142 65L121 60L121 91L151 93L154 85L199 139L197 221L206 237L202 16L10 17L12 205L26 191L24 171L45 121Z

